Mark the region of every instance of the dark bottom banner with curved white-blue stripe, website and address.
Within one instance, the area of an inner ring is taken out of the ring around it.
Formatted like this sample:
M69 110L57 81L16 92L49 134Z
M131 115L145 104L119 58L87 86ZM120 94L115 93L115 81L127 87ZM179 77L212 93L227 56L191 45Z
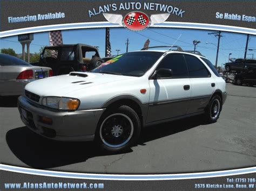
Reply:
M182 174L90 174L0 165L0 189L255 190L256 167ZM12 177L12 179L10 179Z

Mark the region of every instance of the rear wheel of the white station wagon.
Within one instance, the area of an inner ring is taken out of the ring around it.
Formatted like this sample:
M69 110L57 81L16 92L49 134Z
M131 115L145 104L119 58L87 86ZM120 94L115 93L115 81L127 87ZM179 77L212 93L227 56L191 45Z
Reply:
M214 95L205 111L205 118L207 123L215 123L217 122L220 112L222 109L222 101L219 95Z

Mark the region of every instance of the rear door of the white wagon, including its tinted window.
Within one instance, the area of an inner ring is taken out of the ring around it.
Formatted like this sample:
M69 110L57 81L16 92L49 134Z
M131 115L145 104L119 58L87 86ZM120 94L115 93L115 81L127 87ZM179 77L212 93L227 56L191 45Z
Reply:
M187 114L202 112L216 89L215 79L196 56L185 54L185 59L191 82L191 101Z

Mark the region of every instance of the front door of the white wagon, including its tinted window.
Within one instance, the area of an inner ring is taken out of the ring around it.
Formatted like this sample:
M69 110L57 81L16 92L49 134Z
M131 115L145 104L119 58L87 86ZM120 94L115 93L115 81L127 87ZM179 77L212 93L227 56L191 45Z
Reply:
M160 121L185 115L190 103L190 79L184 55L167 54L159 63L156 71L172 69L172 77L157 76L150 79L150 103L147 122Z

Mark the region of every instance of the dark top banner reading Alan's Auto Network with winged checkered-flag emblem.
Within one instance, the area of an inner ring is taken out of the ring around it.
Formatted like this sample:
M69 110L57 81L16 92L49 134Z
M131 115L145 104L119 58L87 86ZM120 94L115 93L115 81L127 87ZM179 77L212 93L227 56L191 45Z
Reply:
M22 33L129 26L142 12L147 27L256 34L255 1L1 1L0 37ZM17 9L19 8L19 9ZM109 15L111 14L111 15ZM111 18L112 19L109 19ZM145 19L145 18L149 19ZM147 20L147 21L146 21ZM135 27L135 26L134 26ZM141 26L143 29L146 26Z

